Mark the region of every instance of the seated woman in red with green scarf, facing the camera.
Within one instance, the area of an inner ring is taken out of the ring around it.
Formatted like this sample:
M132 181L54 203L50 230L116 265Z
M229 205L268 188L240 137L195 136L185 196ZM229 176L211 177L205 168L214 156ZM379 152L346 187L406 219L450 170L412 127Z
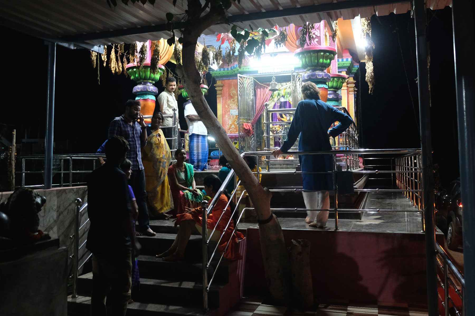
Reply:
M197 208L203 200L203 193L196 189L193 165L185 163L184 148L175 152L176 163L168 168L168 181L173 198L173 216L186 212L185 208Z

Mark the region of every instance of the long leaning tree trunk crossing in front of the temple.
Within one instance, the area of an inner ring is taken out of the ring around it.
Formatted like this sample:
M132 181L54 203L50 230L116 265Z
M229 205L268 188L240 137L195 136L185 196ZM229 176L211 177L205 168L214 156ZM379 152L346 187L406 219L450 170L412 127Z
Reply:
M188 92L193 107L246 188L247 194L255 205L257 219L265 221L273 216L270 211L272 193L262 188L255 175L247 167L201 92L201 77L195 65L196 43L205 29L225 19L224 13L219 13L214 9L210 9L209 13L200 18L202 11L199 0L188 1L187 26L182 33L183 66L177 66L177 72L181 76L182 84ZM259 225L259 235L269 291L276 303L288 304L292 298L290 264L282 228L275 216L269 223Z

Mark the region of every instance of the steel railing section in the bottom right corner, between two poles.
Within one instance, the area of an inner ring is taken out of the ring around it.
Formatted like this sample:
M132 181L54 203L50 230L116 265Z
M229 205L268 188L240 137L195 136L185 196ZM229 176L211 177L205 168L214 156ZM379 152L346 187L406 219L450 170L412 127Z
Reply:
M465 279L464 275L462 272L460 272L457 267L455 266L454 262L450 260L448 257L447 253L444 251L444 249L436 242L436 249L437 249L437 265L441 269L441 271L444 274L444 280L440 280L439 275L437 274L437 280L439 281L440 286L444 289L444 298L442 298L439 294L439 299L442 302L442 306L445 309L445 316L449 316L449 312L452 309L455 312L456 316L464 316L465 313L463 311L463 306L464 306L464 289L465 289ZM450 277L450 274L455 277L455 279L458 281L460 289L455 284L455 281ZM449 294L449 288L452 287L457 296L462 300L462 311L459 311L456 307L456 304L454 303L454 300ZM452 308L450 308L450 305L452 305ZM452 315L452 314L450 314Z

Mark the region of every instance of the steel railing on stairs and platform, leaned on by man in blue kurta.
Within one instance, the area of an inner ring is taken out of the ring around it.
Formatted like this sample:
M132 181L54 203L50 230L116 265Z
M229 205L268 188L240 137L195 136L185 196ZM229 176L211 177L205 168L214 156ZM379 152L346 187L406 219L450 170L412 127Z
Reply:
M335 193L335 195L334 195L334 208L333 209L324 209L324 210L329 210L329 211L334 211L335 212L335 230L338 230L338 211L342 211L342 212L361 212L361 211L371 211L371 212L394 212L394 211L397 211L397 212L418 212L418 209L402 209L402 210L399 210L399 209L398 210L394 210L394 209L346 209L346 208L344 208L344 209L340 208L339 209L338 208L338 190L336 188L336 176L335 176L336 175L336 159L335 158L336 158L337 154L356 155L356 156L358 156L359 154L397 154L397 155L401 155L401 156L406 156L406 155L413 155L413 154L419 154L419 153L420 153L420 149L357 149L357 150L338 150L338 151L332 150L332 151L322 151L322 152L290 151L290 152L288 152L288 154L294 154L294 155L302 155L302 154L307 154L307 155L314 155L314 154L333 155L333 171L329 171L329 172L297 172L297 171L291 171L291 172L289 172L289 171L287 171L287 172L285 172L285 171L284 172L276 171L276 172L272 172L272 171L267 171L267 172L262 172L262 173L264 173L264 174L286 174L286 173L287 174L289 174L289 173L292 173L292 174L309 174L309 173L323 173L323 174L329 173L329 174L333 174L333 185L334 185L334 187L333 187L333 190L328 190L328 191ZM244 156L257 156L257 162L259 162L259 160L260 160L259 157L261 157L261 156L269 157L270 155L271 155L270 151L269 152L245 152L245 153L241 154L242 157L244 157ZM378 171L378 170L375 170L375 171L356 170L356 171L353 171L353 172L354 173L368 174L368 173L379 173L380 171ZM405 170L390 170L390 171L381 171L381 172L399 174L399 173L404 173L406 171ZM420 170L413 170L412 172L419 174L421 171ZM235 173L234 170L231 169L231 171L228 173L228 176L223 181L223 184L219 188L216 196L211 200L209 205L208 205L207 202L204 202L202 204L203 223L206 223L205 220L208 218L208 215L211 212L211 210L215 207L215 205L216 205L219 197L221 196L222 192L224 190L226 190L226 186L228 185L229 181L231 181L231 179L233 179L234 173ZM259 168L258 168L258 166L257 166L257 172L254 172L254 174L256 174L257 177L259 177ZM240 181L237 182L236 188L233 191L233 193L232 193L232 195L231 195L231 197L228 201L228 205L229 205L231 199L234 198L234 196L237 192L236 189L239 185L240 185ZM303 191L303 189L271 189L270 191L271 192L301 192L301 191ZM403 192L403 191L422 192L423 188L422 188L422 185L420 185L417 190L416 189L405 189L405 190L401 190L401 189L398 189L398 190L396 190L396 189L394 189L394 190L391 190L391 189L355 189L354 191L355 192L373 192L373 193ZM231 215L230 218L233 218L234 214L236 214L237 209L239 207L239 202L245 196L245 193L246 193L246 190L241 192L241 195L237 199L236 208L233 210L232 215ZM226 210L228 208L228 205L226 205L226 208L224 210ZM235 223L234 231L237 230L237 226L238 226L239 221L242 217L242 214L247 209L253 209L253 208L244 208L241 211L241 213L239 214L238 219ZM299 211L300 209L298 209L298 208L271 208L271 210L272 211L283 211L283 210ZM302 209L302 211L307 211L307 210L308 209ZM313 209L313 210L321 211L322 209ZM223 214L224 214L224 212L223 212ZM221 214L221 217L218 219L217 226L218 226L219 222L221 221L221 218L222 218L223 214ZM231 222L231 220L229 220L227 225L225 226L219 241L221 241L221 239L224 235L224 231L226 231L226 229L228 228L230 222ZM214 227L212 233L214 233L215 230L216 230L216 226ZM210 256L210 258L208 258L208 244L209 244L210 238L208 237L208 232L207 232L206 229L203 229L202 232L203 232L203 239L202 239L203 240L203 242L202 242L202 252L203 252L203 308L205 310L208 310L208 296L207 296L208 294L207 293L209 292L211 283L213 282L214 276L216 275L216 271L218 271L219 264L221 263L222 258L224 256L224 253L227 251L227 249L223 252L223 254L221 254L221 258L219 259L219 261L217 263L217 266L214 269L214 274L211 277L211 280L209 280L209 282L208 282L208 272L207 272L207 270L209 268L210 263L212 262L213 256L215 255L215 253L217 251L217 247L214 249L214 251L213 251L212 255ZM218 242L218 244L220 244L220 242Z

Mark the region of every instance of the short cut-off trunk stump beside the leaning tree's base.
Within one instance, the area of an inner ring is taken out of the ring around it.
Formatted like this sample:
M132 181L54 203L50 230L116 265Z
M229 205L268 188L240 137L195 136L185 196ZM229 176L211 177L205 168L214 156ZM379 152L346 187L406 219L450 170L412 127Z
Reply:
M289 251L294 304L311 307L314 305L314 288L310 271L310 243L304 239L293 239Z

